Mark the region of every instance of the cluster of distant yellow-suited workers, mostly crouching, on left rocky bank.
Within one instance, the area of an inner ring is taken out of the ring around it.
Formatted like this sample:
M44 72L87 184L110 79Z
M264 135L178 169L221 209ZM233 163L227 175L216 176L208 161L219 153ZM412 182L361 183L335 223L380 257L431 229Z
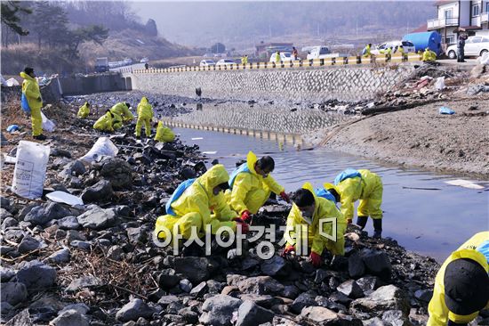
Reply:
M128 102L116 103L112 108L107 110L94 124L93 129L103 132L112 133L120 129L124 123L134 119L131 110L131 104ZM136 138L140 138L142 126L147 137L151 136L151 122L154 117L153 107L148 102L148 98L143 96L136 110L138 119L136 120ZM77 118L87 118L90 115L90 103L85 102L78 110ZM175 134L167 126L164 126L162 121L156 124L155 140L157 142L169 143L175 140Z

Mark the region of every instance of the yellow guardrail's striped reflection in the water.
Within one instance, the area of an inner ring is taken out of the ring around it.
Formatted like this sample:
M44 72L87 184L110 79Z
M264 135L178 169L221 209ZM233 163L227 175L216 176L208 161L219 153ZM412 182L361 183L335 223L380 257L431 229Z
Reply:
M258 130L258 129L246 129L246 128L236 128L234 126L207 126L207 125L195 125L188 124L184 122L174 121L171 118L161 118L164 125L180 128L190 128L199 129L205 131L216 131L220 133L227 134L241 134L252 136L255 138L268 139L270 141L276 141L277 143L289 143L293 145L303 146L303 140L301 134L287 134L287 133L277 133L275 131L269 130Z

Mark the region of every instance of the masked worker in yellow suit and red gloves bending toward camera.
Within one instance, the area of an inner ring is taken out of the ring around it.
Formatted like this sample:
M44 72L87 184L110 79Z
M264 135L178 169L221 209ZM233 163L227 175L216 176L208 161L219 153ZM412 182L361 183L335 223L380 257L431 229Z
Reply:
M300 190L295 192L292 200L293 207L287 217L285 231L287 243L284 255L295 251L296 247L303 246L307 241L308 248L310 248L309 258L317 267L322 264L321 255L325 249L328 249L333 255L343 256L347 222L334 202L318 197L310 183L305 183ZM336 224L335 234L332 234L333 224ZM301 226L299 229L298 225ZM328 239L326 235L332 239ZM301 250L302 248L299 251Z

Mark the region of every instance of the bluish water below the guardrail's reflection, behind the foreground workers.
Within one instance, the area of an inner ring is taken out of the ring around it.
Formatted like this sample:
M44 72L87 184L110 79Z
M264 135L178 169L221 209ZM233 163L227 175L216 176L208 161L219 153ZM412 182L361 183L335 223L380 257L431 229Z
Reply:
M315 187L333 182L343 168L368 168L381 175L384 183L383 236L396 239L406 249L443 261L475 232L489 230L489 181L479 180L485 190L453 186L445 181L454 175L436 175L416 169L402 169L338 151L295 151L293 147L234 134L175 129L187 143L207 156L219 159L231 171L247 151L271 155L276 160L273 176L292 192L309 181ZM192 138L200 138L195 139ZM425 190L430 189L430 190ZM373 232L372 220L366 230Z

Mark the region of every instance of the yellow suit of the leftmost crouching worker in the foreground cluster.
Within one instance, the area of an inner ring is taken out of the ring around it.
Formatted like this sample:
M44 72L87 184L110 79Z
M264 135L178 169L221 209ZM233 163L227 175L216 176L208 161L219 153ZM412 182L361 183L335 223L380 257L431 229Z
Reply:
M229 208L222 192L218 195L212 192L214 187L220 183L227 183L228 180L228 171L220 164L196 178L180 198L172 202L171 208L175 215L167 214L157 218L156 237L166 239L164 227L173 234L175 225L183 239L190 238L193 226L196 227L199 237L204 236L206 225L211 225L212 234L215 234L221 226L228 226L236 231L236 222L231 221L236 217L236 212Z

